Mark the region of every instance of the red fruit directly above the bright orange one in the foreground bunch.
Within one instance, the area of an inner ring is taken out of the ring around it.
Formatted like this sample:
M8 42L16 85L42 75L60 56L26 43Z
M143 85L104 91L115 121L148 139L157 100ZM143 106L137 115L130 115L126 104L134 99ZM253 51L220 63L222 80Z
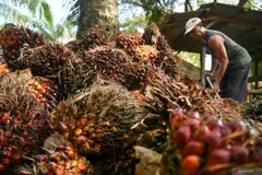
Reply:
M203 155L204 144L199 141L189 141L183 148L184 155Z

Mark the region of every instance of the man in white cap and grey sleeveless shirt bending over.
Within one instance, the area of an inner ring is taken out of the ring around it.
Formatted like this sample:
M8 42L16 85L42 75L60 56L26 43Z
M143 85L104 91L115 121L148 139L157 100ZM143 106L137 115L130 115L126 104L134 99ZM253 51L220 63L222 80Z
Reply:
M206 50L215 58L210 77L219 65L214 82L214 90L221 97L231 98L238 103L246 102L248 73L251 57L248 51L222 32L207 30L199 18L192 18L186 23L184 35L201 39Z

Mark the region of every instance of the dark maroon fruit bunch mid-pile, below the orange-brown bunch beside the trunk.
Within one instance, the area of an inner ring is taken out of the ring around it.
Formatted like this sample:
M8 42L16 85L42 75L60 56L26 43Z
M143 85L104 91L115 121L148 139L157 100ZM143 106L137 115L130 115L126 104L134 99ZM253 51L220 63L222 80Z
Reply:
M108 46L97 46L85 51L85 62L91 72L100 74L106 80L114 80L124 84L124 67L128 56Z

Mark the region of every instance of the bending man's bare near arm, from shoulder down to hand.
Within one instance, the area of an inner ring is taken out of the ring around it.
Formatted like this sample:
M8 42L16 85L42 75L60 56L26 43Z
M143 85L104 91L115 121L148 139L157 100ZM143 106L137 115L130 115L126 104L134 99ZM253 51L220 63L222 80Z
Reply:
M214 89L216 91L221 91L219 90L219 83L222 81L222 78L224 77L227 66L228 66L228 58L227 58L227 52L226 52L226 48L224 46L224 37L221 35L213 35L210 38L210 46L212 48L212 50L214 51L216 58L218 59L218 61L221 62L221 67L219 67L219 71L214 84Z

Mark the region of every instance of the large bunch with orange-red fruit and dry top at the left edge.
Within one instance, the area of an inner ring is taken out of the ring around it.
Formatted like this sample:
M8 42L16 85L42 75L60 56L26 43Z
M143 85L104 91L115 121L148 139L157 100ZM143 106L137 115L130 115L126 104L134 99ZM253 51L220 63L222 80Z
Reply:
M27 92L29 70L0 77L0 171L36 153L49 136L46 105Z

